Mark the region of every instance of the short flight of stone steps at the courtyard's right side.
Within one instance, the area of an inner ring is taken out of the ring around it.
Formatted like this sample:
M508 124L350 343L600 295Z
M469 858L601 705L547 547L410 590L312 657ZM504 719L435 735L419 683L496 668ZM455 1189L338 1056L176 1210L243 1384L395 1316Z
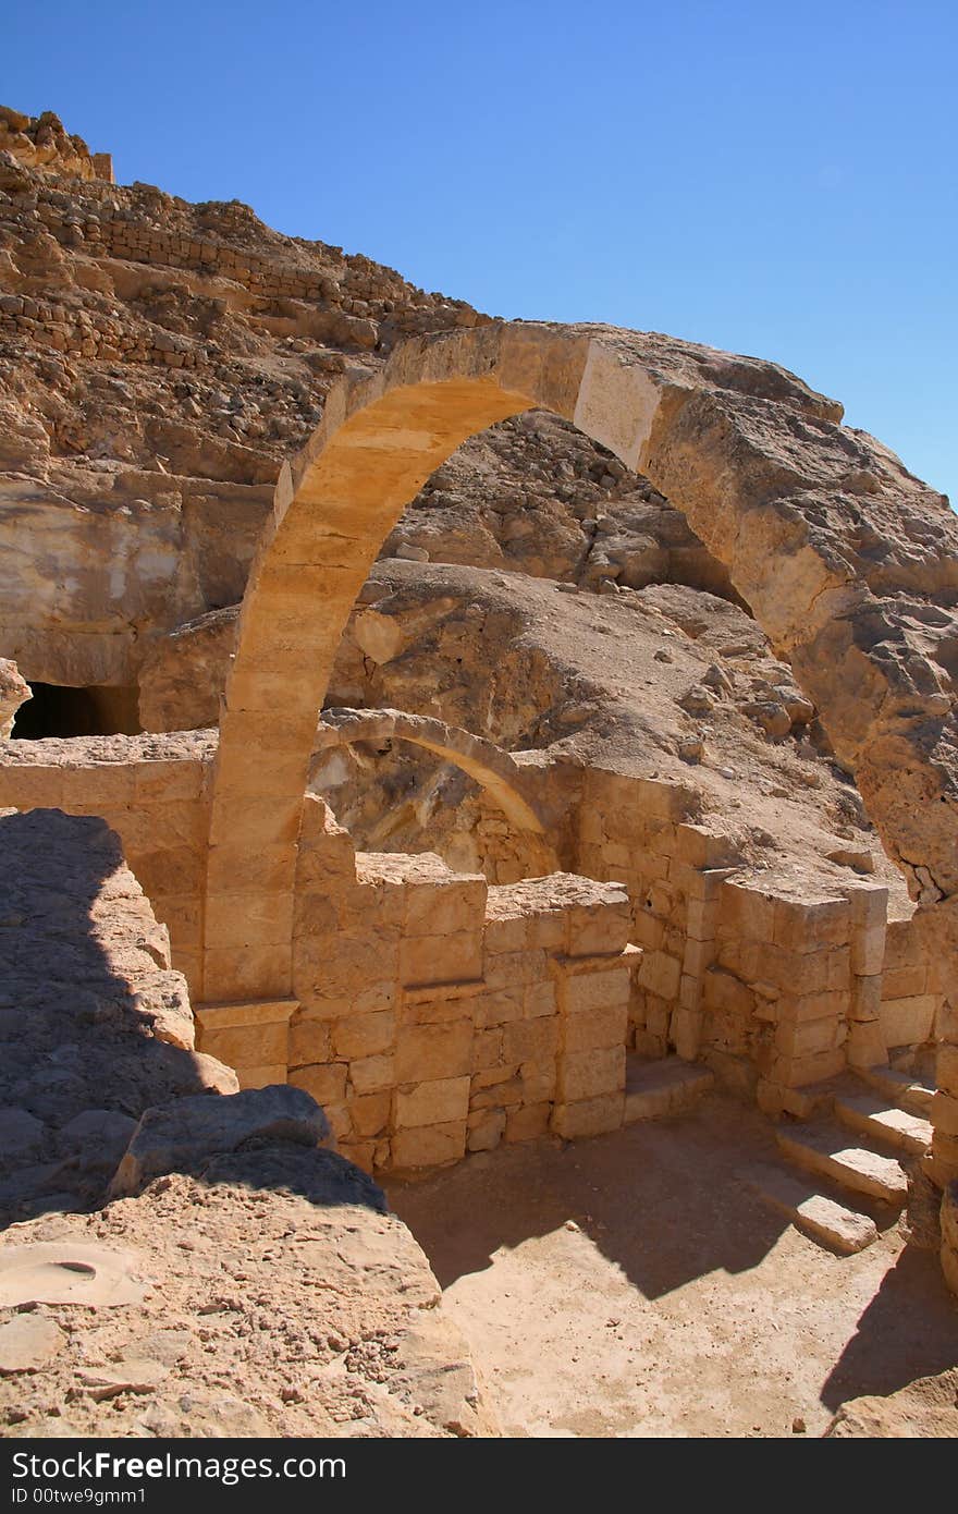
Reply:
M814 1117L778 1126L785 1164L743 1181L814 1240L863 1251L908 1199L907 1166L931 1145L932 1093L887 1067L848 1078L816 1101Z

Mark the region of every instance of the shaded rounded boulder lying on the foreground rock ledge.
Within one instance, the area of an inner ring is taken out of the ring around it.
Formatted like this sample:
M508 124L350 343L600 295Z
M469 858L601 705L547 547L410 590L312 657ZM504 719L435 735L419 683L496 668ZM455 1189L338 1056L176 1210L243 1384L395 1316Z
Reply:
M229 1099L194 1096L147 1110L110 1182L112 1199L136 1193L165 1172L195 1172L248 1140L328 1142L325 1114L303 1089L274 1084Z

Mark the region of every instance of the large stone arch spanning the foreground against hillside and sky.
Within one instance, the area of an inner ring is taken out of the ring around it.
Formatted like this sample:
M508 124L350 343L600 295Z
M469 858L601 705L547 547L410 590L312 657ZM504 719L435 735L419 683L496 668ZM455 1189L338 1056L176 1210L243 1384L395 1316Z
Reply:
M571 419L686 512L819 706L913 892L958 890L958 736L934 659L956 618L935 610L935 625L902 604L935 593L940 606L943 587L958 600L947 501L772 363L649 333L489 322L410 339L374 377L344 378L281 471L221 715L207 1002L250 998L251 984L289 995L297 833L342 627L425 478L466 436L530 407ZM864 525L861 495L873 497ZM908 528L916 518L931 542Z

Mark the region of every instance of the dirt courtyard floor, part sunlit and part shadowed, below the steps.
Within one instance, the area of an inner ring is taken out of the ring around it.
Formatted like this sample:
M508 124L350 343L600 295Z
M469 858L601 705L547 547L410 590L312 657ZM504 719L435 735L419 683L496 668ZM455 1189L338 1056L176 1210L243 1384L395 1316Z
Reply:
M844 1399L955 1366L958 1308L888 1219L857 1257L787 1225L743 1181L769 1158L770 1126L713 1096L475 1155L389 1199L507 1435L820 1435Z

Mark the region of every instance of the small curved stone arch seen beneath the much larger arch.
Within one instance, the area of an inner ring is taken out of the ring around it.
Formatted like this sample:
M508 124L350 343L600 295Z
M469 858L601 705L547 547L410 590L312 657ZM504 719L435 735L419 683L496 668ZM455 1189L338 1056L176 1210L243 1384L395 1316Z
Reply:
M412 742L436 752L469 774L498 804L507 819L521 831L545 834L534 805L525 798L525 774L507 751L481 736L446 725L425 715L404 710L324 710L316 733L316 745L351 745L353 742Z

